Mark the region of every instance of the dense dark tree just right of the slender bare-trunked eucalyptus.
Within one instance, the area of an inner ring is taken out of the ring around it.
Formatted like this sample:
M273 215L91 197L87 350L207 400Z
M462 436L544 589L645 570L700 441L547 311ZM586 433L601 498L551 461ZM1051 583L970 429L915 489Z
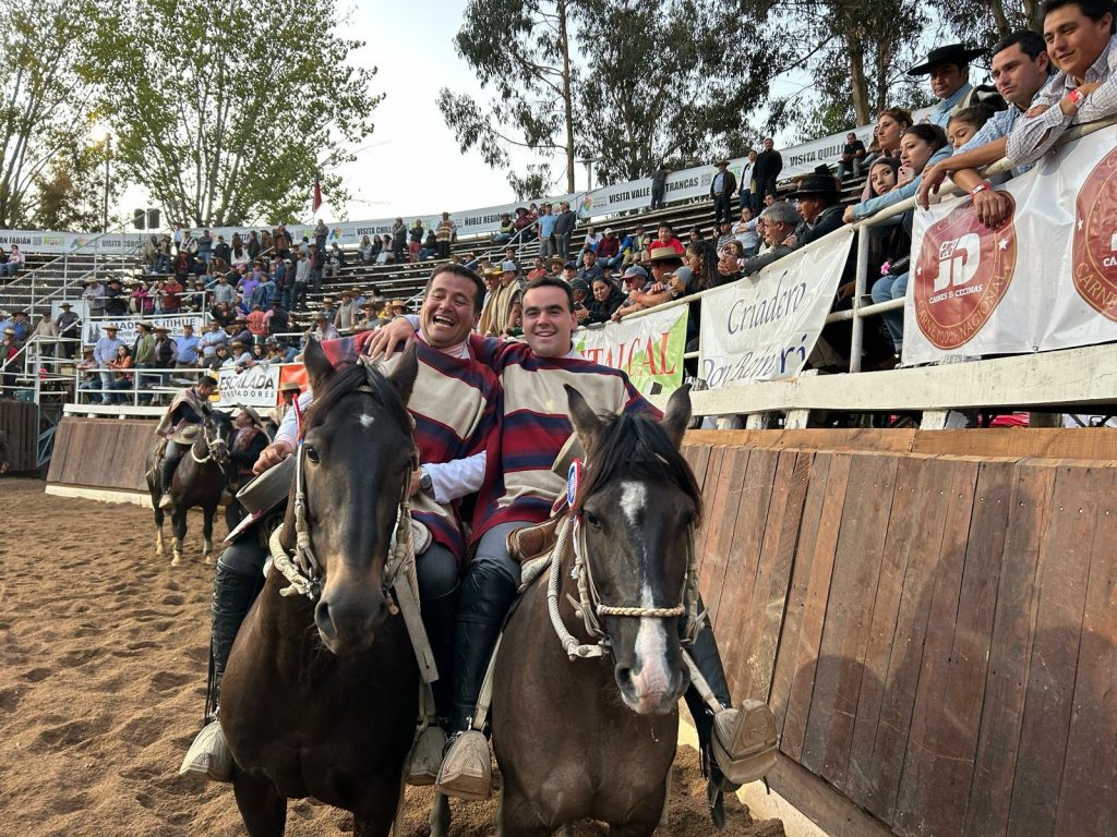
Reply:
M754 19L715 0L596 0L588 12L579 153L602 183L745 151L747 116L784 60Z

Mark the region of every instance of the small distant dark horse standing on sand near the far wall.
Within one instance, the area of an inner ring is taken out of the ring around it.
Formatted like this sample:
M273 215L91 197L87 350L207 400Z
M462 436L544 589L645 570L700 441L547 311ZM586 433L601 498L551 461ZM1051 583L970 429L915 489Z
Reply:
M171 480L171 548L174 558L172 567L182 562L182 542L187 537L187 512L194 506L202 510L202 559L206 564L213 561L213 514L221 501L221 492L229 484L229 441L232 439L232 422L220 410L214 410L198 425L200 432L190 446ZM157 464L157 454L162 442L156 442L147 454L147 490L151 492L151 504L155 510L155 556L162 558L163 549L163 509L159 501L163 496L162 480Z

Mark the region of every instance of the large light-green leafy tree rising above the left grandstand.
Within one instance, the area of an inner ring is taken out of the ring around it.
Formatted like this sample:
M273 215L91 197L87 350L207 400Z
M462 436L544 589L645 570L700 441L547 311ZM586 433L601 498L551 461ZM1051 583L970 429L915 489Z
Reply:
M197 225L289 220L309 209L315 175L372 133L375 70L346 64L361 46L335 32L333 0L131 0L106 9L101 109L115 157L170 220Z

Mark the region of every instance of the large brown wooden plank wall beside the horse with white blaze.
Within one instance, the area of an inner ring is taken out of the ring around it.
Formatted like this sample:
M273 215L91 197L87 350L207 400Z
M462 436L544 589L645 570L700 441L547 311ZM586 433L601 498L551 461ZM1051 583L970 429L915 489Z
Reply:
M1011 431L1011 458L989 432L881 452L688 437L734 694L896 835L1117 835L1113 439ZM991 441L1000 458L970 455Z

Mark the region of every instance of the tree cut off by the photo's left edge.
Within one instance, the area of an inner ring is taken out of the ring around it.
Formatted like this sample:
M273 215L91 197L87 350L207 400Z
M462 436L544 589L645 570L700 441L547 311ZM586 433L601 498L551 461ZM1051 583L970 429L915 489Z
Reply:
M39 186L57 183L58 165L48 170L79 147L88 129L93 17L87 0L0 3L0 228L32 227L54 217L55 210L41 206ZM84 173L71 169L67 175L71 199L74 190L90 186L78 182ZM69 212L59 217L79 220Z

